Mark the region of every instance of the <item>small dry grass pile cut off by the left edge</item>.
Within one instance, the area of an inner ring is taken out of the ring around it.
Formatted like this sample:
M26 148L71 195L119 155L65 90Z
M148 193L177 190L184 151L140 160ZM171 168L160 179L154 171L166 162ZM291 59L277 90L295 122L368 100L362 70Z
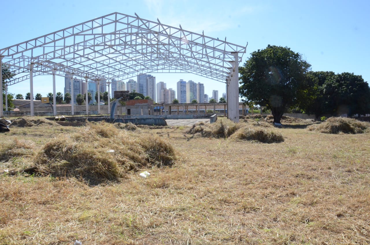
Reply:
M14 140L11 144L0 145L0 161L6 162L14 157L31 157L34 155L33 144Z

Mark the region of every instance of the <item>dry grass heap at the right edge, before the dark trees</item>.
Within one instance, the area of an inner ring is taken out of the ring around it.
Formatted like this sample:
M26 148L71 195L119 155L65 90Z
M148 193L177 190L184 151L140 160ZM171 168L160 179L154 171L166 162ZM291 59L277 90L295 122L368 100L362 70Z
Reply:
M369 128L369 122L361 122L347 117L330 117L325 122L311 125L307 129L325 134L338 134L340 132L345 134L362 134L368 132Z

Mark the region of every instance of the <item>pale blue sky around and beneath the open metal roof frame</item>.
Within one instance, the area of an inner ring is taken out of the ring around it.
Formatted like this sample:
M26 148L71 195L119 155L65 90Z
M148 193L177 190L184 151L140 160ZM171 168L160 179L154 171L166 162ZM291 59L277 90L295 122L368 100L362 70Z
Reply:
M139 17L245 46L249 54L271 45L302 54L313 71L350 72L370 81L370 1L168 1L38 0L1 1L0 48L74 26L113 12ZM243 64L240 64L242 66ZM153 73L157 82L176 89L179 79L205 85L205 93L225 92L225 84L194 74ZM134 78L135 79L135 78ZM136 80L136 79L135 79ZM25 95L29 82L9 86ZM63 93L64 78L57 77ZM52 77L34 77L34 94L53 91Z

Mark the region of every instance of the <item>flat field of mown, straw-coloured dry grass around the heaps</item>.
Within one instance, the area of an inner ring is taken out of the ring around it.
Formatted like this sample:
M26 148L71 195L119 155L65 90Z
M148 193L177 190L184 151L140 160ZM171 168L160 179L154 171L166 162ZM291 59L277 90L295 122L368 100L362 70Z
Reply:
M369 132L324 134L308 130L306 121L282 128L241 123L280 133L284 141L118 127L131 138L172 145L174 164L132 168L99 185L45 173L1 174L0 245L370 243ZM83 128L10 130L0 134L0 171L34 165L54 137ZM142 171L151 175L140 178Z

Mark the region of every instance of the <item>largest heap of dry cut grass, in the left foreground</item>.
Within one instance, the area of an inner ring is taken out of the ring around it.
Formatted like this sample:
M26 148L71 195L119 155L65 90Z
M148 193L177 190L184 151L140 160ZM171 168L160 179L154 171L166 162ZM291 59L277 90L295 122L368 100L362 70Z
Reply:
M108 153L110 150L114 155ZM129 134L101 122L54 138L37 154L35 163L44 174L76 177L97 185L119 181L130 170L170 166L175 160L174 148L162 138Z

